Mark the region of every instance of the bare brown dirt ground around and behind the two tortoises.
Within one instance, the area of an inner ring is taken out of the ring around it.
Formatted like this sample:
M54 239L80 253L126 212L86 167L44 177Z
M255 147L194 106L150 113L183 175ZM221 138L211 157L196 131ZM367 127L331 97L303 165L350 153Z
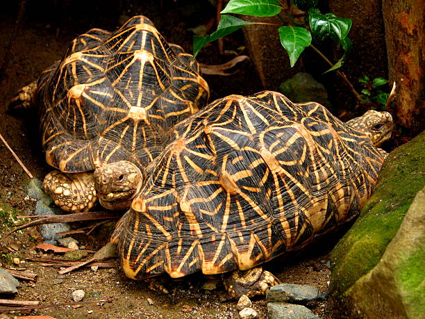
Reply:
M1 58L5 54L17 16L19 1L11 2L0 13ZM8 100L12 95L23 85L37 79L44 68L60 58L69 41L76 35L92 27L109 30L117 28L120 22L123 22L120 21L119 13L147 15L157 24L167 40L181 44L188 51L191 51L192 41L192 33L188 31L188 28L193 28L196 23L185 16L188 13L181 10L185 1L179 1L179 6L174 1L160 1L160 5L146 5L140 10L132 8L130 12L123 9L126 1L119 1L121 7L113 5L113 1L112 3L102 2L103 4L100 4L100 1L99 3L93 1L97 4L90 8L83 1L64 1L66 4L61 8L58 8L57 4L61 1L28 2L30 3L28 3L22 31L13 39L12 56L0 82L0 133L34 177L42 179L50 168L44 161L44 153L40 146L37 115L33 111L28 111L20 117L6 113ZM147 3L153 2L147 1ZM109 10L104 10L106 7ZM199 24L204 24L214 17L212 8L207 11L203 13L203 16L197 16ZM233 38L235 42L227 43L227 45L235 48L243 45L243 40L240 38L236 35ZM208 53L199 54L201 62L219 64L228 60L217 54L216 44L204 51ZM249 62L245 63L242 70L234 76L206 76L206 80L212 90L212 99L231 93L247 95L263 89L260 87L255 69ZM12 207L17 215L31 214L35 202L26 196L25 185L29 181L28 176L2 143L0 143L0 154L0 208L3 209L3 213L10 211ZM42 242L36 229L26 229L20 234L3 238L10 229L6 218L3 217L0 220L0 227L1 268L25 268L26 271L38 274L35 282L20 281L22 288L19 288L15 300L40 300L42 304L69 302L72 301L72 291L76 289L85 291L85 302L106 300L103 303L83 303L76 309L72 306L56 306L34 311L6 312L10 318L28 314L56 318L238 318L237 301L229 300L220 287L213 291L203 289L203 284L209 279L201 275L185 277L178 281L168 280L166 286L169 294L167 295L151 291L144 282L126 279L119 269L99 268L93 271L85 268L58 276L57 268L45 267L40 263L25 260L33 256L58 257L57 254L44 254L35 250L35 245ZM88 250L97 250L107 242L107 231L108 228L103 227L90 236L74 237ZM338 236L332 236L329 240L310 247L303 254L293 255L285 260L272 261L265 267L283 283L317 286L320 291L326 292L330 275L326 263ZM17 250L10 250L11 245ZM12 257L19 258L20 264L12 265L10 263ZM3 297L5 296L0 296L0 298ZM332 311L326 310L326 302L317 302L309 306L322 318L333 318ZM266 317L264 298L254 300L253 308L258 311L260 318Z

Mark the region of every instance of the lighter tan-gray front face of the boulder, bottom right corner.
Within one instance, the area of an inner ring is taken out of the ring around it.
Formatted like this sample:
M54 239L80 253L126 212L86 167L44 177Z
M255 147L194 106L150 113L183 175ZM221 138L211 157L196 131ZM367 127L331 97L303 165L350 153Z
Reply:
M425 187L417 193L378 264L347 291L365 317L423 318Z

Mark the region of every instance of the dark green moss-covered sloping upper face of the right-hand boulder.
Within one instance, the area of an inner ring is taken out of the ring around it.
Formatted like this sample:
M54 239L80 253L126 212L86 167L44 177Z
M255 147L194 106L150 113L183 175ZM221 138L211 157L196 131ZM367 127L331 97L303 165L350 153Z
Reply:
M329 291L337 300L380 261L425 185L425 132L386 158L374 195L331 253Z

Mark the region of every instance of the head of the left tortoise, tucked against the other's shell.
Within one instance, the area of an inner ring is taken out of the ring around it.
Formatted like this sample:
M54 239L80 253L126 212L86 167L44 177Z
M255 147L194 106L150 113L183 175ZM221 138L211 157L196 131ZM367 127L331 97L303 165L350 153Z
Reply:
M118 161L94 170L94 188L100 204L108 209L126 209L142 187L139 167L128 161Z

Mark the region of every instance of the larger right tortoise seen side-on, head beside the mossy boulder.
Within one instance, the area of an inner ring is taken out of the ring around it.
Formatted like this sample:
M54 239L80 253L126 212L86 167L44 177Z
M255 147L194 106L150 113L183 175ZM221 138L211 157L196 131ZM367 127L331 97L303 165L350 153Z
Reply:
M265 293L277 279L258 265L359 215L392 127L387 112L344 123L278 92L214 101L174 127L119 220L111 243L125 274L236 270L231 295Z

